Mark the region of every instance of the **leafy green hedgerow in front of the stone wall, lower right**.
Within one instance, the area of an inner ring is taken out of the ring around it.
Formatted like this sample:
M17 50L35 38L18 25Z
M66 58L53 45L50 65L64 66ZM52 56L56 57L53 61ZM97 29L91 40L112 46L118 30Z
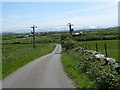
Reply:
M120 75L112 65L104 63L104 60L96 61L92 55L84 53L76 67L81 73L86 73L96 83L97 88L120 89Z

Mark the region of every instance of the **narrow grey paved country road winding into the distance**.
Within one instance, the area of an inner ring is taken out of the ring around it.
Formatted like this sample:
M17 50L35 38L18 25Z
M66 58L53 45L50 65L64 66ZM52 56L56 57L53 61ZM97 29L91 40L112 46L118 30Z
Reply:
M2 81L2 88L75 88L61 64L61 45L51 54L21 67Z

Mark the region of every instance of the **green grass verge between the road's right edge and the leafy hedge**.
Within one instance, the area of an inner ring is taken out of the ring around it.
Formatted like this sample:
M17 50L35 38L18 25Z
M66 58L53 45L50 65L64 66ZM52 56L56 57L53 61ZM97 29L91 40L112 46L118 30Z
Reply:
M62 63L64 66L64 70L67 73L68 77L73 79L77 88L95 88L94 82L92 82L85 73L80 73L77 68L77 60L76 58L79 56L78 53L73 52L63 52L62 54Z

